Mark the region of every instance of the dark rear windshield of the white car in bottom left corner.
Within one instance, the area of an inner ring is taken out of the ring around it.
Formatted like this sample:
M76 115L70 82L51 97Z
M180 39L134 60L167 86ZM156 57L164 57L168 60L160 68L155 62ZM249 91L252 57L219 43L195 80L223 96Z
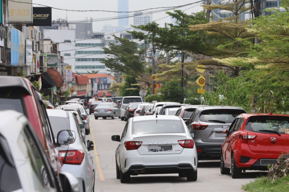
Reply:
M0 191L21 189L20 180L7 141L0 135Z

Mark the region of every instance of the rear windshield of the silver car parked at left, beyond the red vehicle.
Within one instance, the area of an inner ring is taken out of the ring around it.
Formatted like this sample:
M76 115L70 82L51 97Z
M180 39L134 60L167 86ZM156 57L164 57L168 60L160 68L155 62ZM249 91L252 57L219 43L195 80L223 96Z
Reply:
M69 118L67 117L49 116L49 121L55 139L59 131L70 130Z

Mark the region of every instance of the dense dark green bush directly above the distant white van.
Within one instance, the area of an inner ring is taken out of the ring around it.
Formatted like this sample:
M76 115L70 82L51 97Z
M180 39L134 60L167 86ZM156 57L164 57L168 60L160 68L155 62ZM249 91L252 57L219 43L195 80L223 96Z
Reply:
M121 96L139 96L140 86L136 84L138 84L136 78L130 75L126 75L125 82L123 86L121 86Z

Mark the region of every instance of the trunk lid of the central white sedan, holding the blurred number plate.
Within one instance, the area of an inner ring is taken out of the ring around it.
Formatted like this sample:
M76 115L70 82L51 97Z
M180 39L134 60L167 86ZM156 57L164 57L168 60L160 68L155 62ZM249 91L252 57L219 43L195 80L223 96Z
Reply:
M179 154L184 149L178 140L186 139L186 133L133 134L134 141L141 141L140 155Z

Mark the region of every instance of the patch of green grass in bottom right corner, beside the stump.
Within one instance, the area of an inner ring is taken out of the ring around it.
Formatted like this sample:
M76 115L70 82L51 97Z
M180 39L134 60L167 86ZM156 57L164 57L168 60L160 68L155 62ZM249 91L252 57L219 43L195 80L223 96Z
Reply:
M271 181L266 182L265 176L263 176L243 185L242 189L249 192L288 192L289 176L278 178L273 183Z

